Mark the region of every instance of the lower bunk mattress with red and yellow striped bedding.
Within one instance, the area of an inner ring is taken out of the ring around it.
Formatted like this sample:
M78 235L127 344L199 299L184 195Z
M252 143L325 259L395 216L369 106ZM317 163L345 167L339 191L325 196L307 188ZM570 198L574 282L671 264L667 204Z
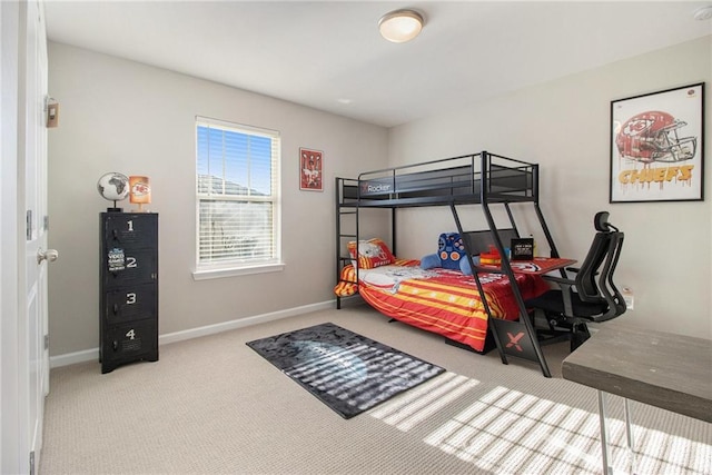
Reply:
M479 274L487 305L493 318L518 319L518 306L502 274ZM473 348L485 349L487 313L474 277L461 271L432 268L421 269L419 260L397 259L392 264L358 269L353 265L342 269L342 278L334 291L338 297L359 294L382 314L398 321L444 336ZM516 275L524 299L534 298L548 285L541 276Z

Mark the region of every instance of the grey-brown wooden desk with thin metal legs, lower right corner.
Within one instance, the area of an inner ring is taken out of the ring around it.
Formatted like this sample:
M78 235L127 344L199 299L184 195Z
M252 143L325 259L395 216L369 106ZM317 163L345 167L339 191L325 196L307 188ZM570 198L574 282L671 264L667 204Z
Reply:
M596 331L562 364L564 379L599 390L601 448L609 466L605 394L625 398L630 464L635 453L627 399L712 423L712 342L610 325Z

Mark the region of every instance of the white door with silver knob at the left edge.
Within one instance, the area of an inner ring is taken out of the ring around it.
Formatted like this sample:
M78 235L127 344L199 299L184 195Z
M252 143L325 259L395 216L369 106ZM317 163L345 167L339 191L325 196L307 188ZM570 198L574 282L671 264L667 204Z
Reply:
M33 474L42 446L44 396L49 390L44 343L47 260L38 260L38 254L48 255L47 39L41 0L0 3L3 139L0 463L2 473Z

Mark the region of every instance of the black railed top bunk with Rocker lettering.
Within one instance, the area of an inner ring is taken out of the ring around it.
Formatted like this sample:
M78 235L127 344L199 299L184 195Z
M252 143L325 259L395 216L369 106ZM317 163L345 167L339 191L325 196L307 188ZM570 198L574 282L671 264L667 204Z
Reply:
M478 154L337 178L342 206L402 208L538 201L538 165Z

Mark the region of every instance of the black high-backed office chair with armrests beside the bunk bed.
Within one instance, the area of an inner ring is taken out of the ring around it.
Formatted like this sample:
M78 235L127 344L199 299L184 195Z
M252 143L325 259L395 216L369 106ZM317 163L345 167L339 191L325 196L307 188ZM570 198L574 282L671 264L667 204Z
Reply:
M544 276L560 288L525 300L533 311L542 343L571 340L571 350L576 349L591 334L587 323L605 321L625 313L625 300L613 283L613 273L623 247L623 232L609 222L609 212L600 211L594 220L596 234L589 254L578 268L567 268L574 279Z

